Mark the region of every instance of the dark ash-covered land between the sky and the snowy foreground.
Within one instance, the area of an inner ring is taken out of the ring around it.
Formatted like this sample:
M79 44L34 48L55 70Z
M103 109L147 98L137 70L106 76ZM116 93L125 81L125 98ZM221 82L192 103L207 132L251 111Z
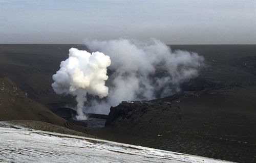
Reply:
M183 83L173 96L110 108L103 128L72 121L74 111L67 105L74 104L74 98L56 95L51 88L52 75L71 47L87 49L0 45L0 88L3 82L8 85L0 94L0 120L41 121L122 143L256 162L256 45L170 45L205 58L199 76Z

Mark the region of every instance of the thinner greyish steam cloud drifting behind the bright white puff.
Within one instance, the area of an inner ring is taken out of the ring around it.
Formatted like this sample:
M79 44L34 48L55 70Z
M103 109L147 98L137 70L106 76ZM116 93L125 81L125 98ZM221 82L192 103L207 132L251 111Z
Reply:
M86 40L86 46L108 54L110 88L108 97L92 100L87 112L108 114L121 101L153 99L180 91L179 85L198 75L204 58L197 53L175 50L157 39L140 42L129 39Z

